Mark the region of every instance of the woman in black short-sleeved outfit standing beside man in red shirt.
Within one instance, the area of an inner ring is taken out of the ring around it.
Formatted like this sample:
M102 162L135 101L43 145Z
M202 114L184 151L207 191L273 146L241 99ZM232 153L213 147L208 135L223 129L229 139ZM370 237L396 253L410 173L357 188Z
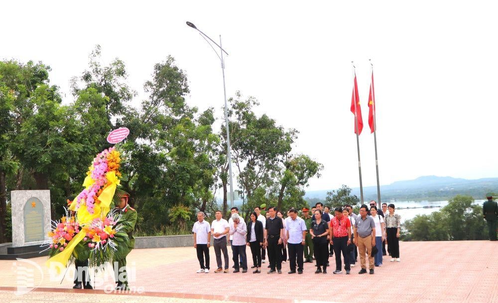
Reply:
M327 259L329 257L329 242L327 241L327 235L329 234L329 224L322 220L322 211L315 211L315 221L311 223L310 234L313 240L313 246L315 247L315 259L317 270L315 274L322 272L321 266L323 266L323 273L327 273Z

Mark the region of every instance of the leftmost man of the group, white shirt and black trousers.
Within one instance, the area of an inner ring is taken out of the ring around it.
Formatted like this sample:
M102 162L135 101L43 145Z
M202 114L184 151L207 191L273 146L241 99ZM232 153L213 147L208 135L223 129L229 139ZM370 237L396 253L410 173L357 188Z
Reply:
M197 249L197 259L201 265L201 269L197 273L209 273L209 246L211 244L211 227L204 220L204 213L197 213L197 222L194 223L192 232L194 232L194 248ZM204 257L206 257L206 265L204 266Z

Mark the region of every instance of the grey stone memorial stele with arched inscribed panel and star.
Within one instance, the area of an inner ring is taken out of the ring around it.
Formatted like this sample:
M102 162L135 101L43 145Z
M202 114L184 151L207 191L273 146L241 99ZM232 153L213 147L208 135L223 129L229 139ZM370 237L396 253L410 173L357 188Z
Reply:
M12 247L39 245L50 231L50 190L13 190Z

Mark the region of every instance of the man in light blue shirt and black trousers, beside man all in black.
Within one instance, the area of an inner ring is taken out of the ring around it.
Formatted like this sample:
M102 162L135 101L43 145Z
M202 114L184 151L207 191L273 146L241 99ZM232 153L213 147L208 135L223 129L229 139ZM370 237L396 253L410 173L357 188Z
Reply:
M289 249L289 274L296 273L296 259L297 259L297 273L303 273L303 254L304 254L304 239L306 237L306 223L303 219L297 216L297 210L291 208L289 210L290 219L286 220L285 232L287 234L287 245Z

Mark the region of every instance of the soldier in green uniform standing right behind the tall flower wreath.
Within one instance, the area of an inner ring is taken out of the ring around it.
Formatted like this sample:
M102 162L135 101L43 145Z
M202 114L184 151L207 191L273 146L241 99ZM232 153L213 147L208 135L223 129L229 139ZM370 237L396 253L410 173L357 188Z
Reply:
M124 254L124 257L119 260L113 260L114 264L114 273L116 277L116 290L128 290L128 274L126 273L126 255L133 249L135 246L135 239L133 238L133 229L135 229L136 224L136 211L128 205L129 195L124 194L121 197L120 204L117 209L121 212L121 221L128 222L130 224L129 227L124 228L124 232L128 234L129 237L129 245L128 251Z

